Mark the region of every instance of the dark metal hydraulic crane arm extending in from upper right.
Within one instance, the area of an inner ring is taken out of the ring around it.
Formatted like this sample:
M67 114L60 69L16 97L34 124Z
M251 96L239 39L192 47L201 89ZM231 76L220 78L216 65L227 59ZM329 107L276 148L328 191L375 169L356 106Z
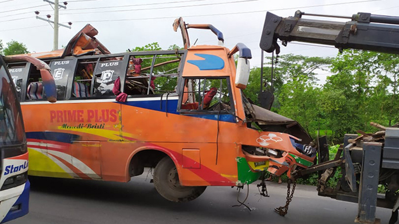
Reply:
M348 18L348 22L304 19L302 15ZM267 12L260 39L266 52L284 46L289 41L334 45L338 49L361 49L399 54L399 17L359 12L352 17L308 14L296 11L295 16L282 18Z

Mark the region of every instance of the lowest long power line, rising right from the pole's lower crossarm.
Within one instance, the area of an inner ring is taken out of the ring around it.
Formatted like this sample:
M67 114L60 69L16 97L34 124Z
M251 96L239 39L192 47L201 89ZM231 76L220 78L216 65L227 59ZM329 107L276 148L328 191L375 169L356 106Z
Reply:
M320 7L320 6L331 6L331 5L339 5L339 4L352 4L352 3L362 3L362 2L370 2L370 1L382 1L382 0L362 0L362 1L351 1L351 2L341 2L341 3L331 3L331 4L310 5L310 6L302 6L302 7L299 6L299 7L278 8L278 9L270 9L270 10L257 10L257 11L244 11L244 12L227 12L227 13L215 13L215 14L205 14L205 15L184 15L182 17L198 17L198 16L213 16L213 15L258 13L258 12L266 12L266 11L280 11L280 10L297 9L297 8L312 8L312 7ZM74 23L78 23L78 22L113 22L113 21L149 20L149 19L166 19L166 18L176 18L176 16L153 17L153 18L131 18L131 19L84 20L84 21L72 21L72 22L74 22Z

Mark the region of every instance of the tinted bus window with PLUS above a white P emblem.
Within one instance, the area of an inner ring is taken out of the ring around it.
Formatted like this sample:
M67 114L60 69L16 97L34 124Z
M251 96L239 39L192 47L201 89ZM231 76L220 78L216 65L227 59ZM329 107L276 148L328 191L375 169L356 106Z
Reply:
M122 57L101 58L94 72L93 96L114 96L112 89L118 77L125 74Z

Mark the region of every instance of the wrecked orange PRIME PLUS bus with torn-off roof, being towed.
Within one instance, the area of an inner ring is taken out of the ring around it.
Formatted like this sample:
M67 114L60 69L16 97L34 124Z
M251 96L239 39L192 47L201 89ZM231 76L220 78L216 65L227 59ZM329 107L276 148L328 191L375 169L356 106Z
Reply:
M313 164L310 136L294 120L244 96L251 52L243 44L111 54L86 25L65 49L32 53L46 62L57 102L45 101L29 63L9 63L29 149L29 175L128 182L154 169L157 191L190 201L206 186L243 186ZM234 53L239 52L235 66ZM255 128L256 126L256 128Z

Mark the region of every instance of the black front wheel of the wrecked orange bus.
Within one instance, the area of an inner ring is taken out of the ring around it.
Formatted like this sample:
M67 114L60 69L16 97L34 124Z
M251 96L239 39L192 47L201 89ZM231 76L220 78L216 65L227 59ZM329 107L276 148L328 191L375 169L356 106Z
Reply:
M206 186L181 186L175 163L169 157L161 159L155 167L154 185L162 197L172 202L192 201L206 189Z

